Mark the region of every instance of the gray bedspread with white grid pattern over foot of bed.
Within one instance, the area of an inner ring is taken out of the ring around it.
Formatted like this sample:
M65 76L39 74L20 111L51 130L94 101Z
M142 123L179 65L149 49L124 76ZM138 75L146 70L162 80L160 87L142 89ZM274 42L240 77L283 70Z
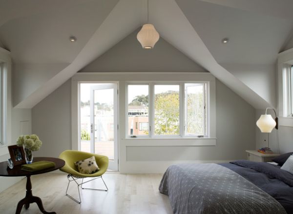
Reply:
M286 214L284 208L237 173L218 164L176 164L159 190L174 214Z

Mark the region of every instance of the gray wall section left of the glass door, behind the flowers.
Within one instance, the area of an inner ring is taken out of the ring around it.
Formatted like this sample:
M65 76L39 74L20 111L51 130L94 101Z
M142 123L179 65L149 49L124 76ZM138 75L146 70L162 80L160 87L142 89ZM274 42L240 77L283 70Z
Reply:
M43 142L37 156L58 157L71 149L71 80L32 109L32 131Z

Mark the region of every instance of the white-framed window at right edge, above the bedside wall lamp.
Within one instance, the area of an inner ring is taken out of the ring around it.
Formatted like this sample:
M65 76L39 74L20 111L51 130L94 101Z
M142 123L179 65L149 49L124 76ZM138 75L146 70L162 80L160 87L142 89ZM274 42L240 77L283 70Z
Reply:
M293 117L293 66L283 69L284 116Z

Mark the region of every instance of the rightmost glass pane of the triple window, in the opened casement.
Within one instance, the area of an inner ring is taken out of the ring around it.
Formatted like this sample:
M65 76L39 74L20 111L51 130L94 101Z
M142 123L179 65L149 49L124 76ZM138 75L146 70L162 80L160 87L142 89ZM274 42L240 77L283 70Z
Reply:
M188 135L205 135L205 84L185 84Z

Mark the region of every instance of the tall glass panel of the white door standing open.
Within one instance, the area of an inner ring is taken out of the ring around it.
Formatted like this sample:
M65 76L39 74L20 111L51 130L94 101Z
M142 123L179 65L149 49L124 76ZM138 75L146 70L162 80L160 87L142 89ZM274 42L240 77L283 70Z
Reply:
M114 89L94 90L95 154L114 159Z

